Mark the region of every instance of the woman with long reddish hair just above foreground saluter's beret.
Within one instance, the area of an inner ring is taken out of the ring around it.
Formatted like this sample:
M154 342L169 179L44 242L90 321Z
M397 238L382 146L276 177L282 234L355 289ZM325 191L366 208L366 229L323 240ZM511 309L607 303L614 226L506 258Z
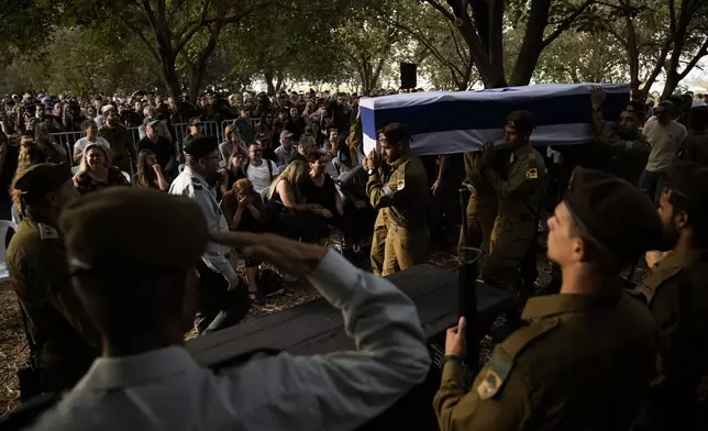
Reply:
M112 186L130 186L123 173L109 165L108 151L99 144L89 144L84 150L81 168L74 177L74 186L81 195Z

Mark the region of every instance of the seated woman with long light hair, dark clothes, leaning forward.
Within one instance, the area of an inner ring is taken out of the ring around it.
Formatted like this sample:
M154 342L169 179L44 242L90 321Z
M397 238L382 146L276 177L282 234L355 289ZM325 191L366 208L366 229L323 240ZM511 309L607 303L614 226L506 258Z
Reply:
M311 183L309 166L303 162L290 163L278 175L270 186L266 206L268 230L305 242L317 242L329 234L327 224L316 217L327 218L330 211L320 205L307 203L303 190L308 183Z

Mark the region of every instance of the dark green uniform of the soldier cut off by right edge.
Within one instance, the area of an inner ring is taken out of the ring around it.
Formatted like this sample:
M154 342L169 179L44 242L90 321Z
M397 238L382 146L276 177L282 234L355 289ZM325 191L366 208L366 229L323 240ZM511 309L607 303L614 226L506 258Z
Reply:
M652 429L708 429L707 278L708 251L671 252L633 290L654 317L664 356Z

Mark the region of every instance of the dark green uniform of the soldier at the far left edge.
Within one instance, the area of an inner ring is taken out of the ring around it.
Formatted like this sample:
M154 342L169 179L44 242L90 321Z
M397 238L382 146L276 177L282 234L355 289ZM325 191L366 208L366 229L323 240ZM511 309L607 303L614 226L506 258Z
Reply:
M100 353L99 336L71 286L58 232L25 218L10 241L7 263L38 347L45 388L70 388Z

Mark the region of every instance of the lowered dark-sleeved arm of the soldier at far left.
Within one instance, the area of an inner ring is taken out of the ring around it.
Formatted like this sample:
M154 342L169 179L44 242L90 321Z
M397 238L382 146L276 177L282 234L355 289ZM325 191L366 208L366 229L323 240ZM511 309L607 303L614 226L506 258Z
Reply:
M42 248L31 257L30 275L54 307L88 344L100 345L100 336L71 285L66 252L59 240L42 241Z

